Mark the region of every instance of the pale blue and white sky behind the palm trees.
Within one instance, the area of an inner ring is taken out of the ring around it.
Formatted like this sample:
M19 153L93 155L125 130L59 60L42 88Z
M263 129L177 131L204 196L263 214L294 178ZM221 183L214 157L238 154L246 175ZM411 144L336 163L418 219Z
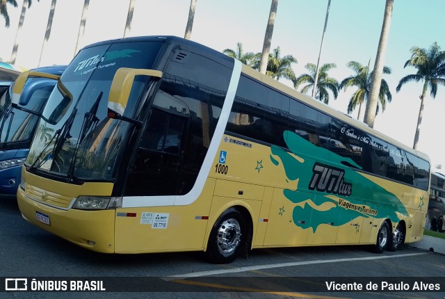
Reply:
M306 73L307 63L316 63L320 51L328 0L280 0L277 7L271 49L280 47L281 56L292 55L297 76ZM10 27L0 19L0 58L10 60L17 32L22 0L18 7L8 6ZM112 4L111 4L112 3ZM270 12L270 0L197 0L191 39L218 51L236 49L261 52ZM26 12L16 65L38 67L51 0L33 1ZM129 0L90 0L82 46L93 42L122 38ZM129 36L177 35L184 37L190 0L136 0ZM40 66L70 63L74 57L83 0L58 0L48 45ZM398 81L415 74L406 67L412 47L428 49L437 42L445 50L444 0L394 0L385 66L392 73L384 75L392 94L385 112L375 119L374 129L412 147L419 115L423 83L407 83L396 92ZM321 51L321 64L335 63L328 72L342 81L355 74L346 63L355 60L373 68L382 29L385 0L332 0ZM282 81L290 85L289 81ZM331 97L330 106L346 113L355 88L341 90ZM445 86L439 86L435 99L428 96L417 149L430 156L432 170L445 173ZM352 113L357 118L357 111ZM436 165L442 165L437 169Z

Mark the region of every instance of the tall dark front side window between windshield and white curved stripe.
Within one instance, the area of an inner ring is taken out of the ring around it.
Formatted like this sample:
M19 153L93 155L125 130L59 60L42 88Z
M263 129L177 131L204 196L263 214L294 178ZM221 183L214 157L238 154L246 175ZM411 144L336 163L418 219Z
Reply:
M181 59L177 59L181 56ZM126 195L184 195L195 184L216 129L232 70L177 51L163 70Z

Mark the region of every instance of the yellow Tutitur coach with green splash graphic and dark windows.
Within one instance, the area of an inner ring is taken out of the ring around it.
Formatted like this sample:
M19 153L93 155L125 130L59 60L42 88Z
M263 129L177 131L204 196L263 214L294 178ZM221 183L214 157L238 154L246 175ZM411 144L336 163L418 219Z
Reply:
M189 40L85 47L42 114L19 209L83 248L229 263L423 234L428 156Z

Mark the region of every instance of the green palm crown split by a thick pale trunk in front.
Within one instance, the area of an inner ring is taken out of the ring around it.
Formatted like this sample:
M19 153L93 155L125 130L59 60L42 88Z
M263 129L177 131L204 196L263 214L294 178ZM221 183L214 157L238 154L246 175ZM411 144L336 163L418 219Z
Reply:
M341 81L339 89L346 89L350 86L355 86L358 89L353 93L353 96L349 100L348 113L352 113L354 109L359 106L359 115L357 120L362 119L362 105L369 99L369 92L371 90L371 78L373 72L369 74L369 64L367 66L358 63L357 61L350 61L346 64L347 67L355 71L355 76L349 76ZM383 67L383 74L391 74L391 69L389 67ZM389 86L385 79L380 82L380 92L378 95L380 106L382 106L382 111L385 111L387 102L391 102L392 95L389 91ZM379 104L378 103L378 104ZM375 109L375 114L380 110L379 105Z

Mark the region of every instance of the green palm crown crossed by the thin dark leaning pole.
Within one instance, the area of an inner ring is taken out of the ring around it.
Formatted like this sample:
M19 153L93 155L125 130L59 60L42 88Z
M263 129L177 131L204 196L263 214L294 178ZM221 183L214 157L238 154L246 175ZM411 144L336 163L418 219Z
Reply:
M301 84L308 83L300 90L301 92L307 93L310 89L314 90L316 81L316 91L312 92L312 94L315 95L316 99L319 99L325 104L329 104L329 93L327 90L330 90L334 94L334 99L337 99L337 96L339 95L339 81L330 78L330 76L327 75L327 71L332 70L335 67L337 67L335 63L323 64L318 69L318 80L316 81L317 66L314 65L314 63L307 63L305 68L309 71L309 74L298 76L298 78L293 81L293 86L297 89Z

